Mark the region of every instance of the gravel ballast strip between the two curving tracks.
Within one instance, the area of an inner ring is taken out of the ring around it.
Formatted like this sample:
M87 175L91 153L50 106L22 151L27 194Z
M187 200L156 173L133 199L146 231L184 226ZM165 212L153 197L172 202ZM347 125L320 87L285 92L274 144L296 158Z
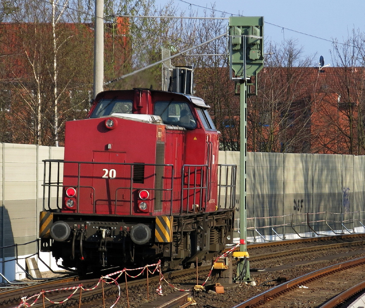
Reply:
M204 308L206 305L215 308L228 308L233 307L243 301L253 297L261 292L264 292L270 286L276 285L276 282L267 282L269 280L276 280L278 277L287 276L289 279L301 276L311 271L321 269L323 267L347 261L350 259L360 258L365 256L365 251L349 250L346 248L346 252L336 250L326 252L315 252L310 257L308 255L290 256L285 258L270 259L269 261L251 262L251 270L254 268L266 268L265 272L251 273L253 279L253 285L242 283L235 284L230 288L224 289L224 294L216 294L215 292L200 292L194 294L194 300L196 301L196 308ZM207 272L199 272L199 284L202 284L207 276ZM180 289L192 289L196 284L196 277L178 278L174 281L169 281L171 284ZM207 284L210 281L207 282ZM260 285L264 284L264 285ZM149 287L150 299L153 301L160 297L155 289L158 285L153 283ZM166 282L162 284L162 292L164 295L171 292L179 292L171 288ZM131 290L128 292L130 308L138 308L143 303L147 302L146 287L139 287L138 290ZM112 304L111 302L108 304ZM109 306L110 307L110 306ZM122 291L122 296L116 305L118 308L128 307L126 301L126 292ZM208 306L209 307L209 306Z

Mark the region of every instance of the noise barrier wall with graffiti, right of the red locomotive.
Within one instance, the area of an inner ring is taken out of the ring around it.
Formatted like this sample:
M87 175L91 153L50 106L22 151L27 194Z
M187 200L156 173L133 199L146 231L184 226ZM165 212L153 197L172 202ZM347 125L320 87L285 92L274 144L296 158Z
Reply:
M219 163L239 163L239 152L220 152L219 157ZM260 218L255 227L283 226L303 221L300 214L326 212L331 221L331 213L364 211L364 177L365 156L248 152L247 218ZM239 194L239 181L237 185ZM237 196L237 208L238 203ZM321 215L313 214L311 220L322 220ZM328 230L318 224L317 230Z

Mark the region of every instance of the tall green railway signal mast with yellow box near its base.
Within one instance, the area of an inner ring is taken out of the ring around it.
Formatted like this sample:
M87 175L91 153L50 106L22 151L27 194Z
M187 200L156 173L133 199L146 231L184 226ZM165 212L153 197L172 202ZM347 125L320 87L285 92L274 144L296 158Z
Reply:
M257 74L264 67L264 17L230 17L229 62L230 78L235 81L235 92L240 95L240 249L236 281L250 280L247 253L246 161L247 161L247 96L257 95ZM254 87L254 91L250 91Z

